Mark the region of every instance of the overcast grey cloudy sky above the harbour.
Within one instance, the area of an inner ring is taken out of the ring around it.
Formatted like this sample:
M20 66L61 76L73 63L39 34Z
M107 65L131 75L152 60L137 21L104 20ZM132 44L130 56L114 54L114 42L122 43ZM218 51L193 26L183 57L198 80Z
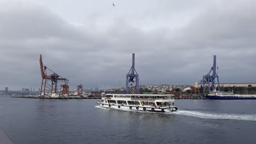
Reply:
M115 7L113 6L115 4ZM39 55L69 86L256 82L256 1L0 0L0 89L40 87Z

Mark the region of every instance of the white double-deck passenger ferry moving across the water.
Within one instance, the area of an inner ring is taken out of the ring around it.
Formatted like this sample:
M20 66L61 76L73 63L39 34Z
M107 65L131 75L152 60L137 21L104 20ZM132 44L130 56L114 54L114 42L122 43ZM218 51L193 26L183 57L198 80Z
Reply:
M97 104L109 109L173 112L178 111L173 97L173 94L106 94Z

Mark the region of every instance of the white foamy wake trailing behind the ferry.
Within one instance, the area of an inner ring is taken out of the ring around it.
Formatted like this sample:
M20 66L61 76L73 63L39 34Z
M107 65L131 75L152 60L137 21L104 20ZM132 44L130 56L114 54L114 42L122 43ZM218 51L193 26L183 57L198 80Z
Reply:
M184 111L179 110L174 112L177 115L186 115L192 117L199 118L208 118L208 119L235 119L235 120L243 120L243 121L256 121L256 115L242 115L242 114L234 114L234 113L207 113L200 111Z

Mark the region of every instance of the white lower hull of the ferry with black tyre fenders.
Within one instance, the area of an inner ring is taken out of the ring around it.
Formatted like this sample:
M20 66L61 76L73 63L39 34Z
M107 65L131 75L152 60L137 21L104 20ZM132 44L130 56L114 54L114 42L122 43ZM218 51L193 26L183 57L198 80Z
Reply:
M178 111L178 107L147 107L147 106L137 106L137 105L115 105L115 104L104 104L97 103L98 105L107 109L120 109L120 110L134 110L134 111L150 111L150 112L174 112Z

